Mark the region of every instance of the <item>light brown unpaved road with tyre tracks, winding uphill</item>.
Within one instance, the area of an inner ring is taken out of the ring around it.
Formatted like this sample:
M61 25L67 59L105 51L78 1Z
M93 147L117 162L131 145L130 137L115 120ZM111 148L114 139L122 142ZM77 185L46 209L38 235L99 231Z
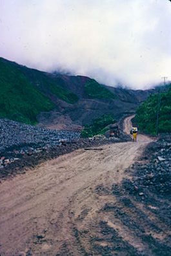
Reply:
M127 133L131 118L125 120ZM150 142L147 136L139 135L137 143L105 145L96 148L99 150L79 149L2 181L0 254L114 255L97 254L90 244L101 221L110 228L117 226L126 242L143 250L133 235L127 237L128 231L122 229L119 220L106 219L101 209L116 200L114 195L105 193L104 187L110 190L112 184L119 186L129 176L125 169ZM96 246L105 248L108 242L99 239Z

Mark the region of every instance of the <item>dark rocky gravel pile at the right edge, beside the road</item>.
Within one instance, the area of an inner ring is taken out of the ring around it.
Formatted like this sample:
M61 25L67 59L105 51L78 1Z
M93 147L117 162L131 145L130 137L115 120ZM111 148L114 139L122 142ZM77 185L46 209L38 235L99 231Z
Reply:
M149 193L157 197L171 198L171 134L162 135L157 142L150 144L145 151L146 164L133 165L136 171L134 180L127 181L130 193L145 200Z

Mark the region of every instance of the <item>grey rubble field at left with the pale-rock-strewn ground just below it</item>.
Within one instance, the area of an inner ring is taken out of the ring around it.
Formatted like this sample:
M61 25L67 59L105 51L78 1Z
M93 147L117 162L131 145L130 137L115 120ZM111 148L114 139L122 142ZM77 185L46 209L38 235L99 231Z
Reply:
M10 164L19 164L23 156L32 156L64 143L76 142L80 133L43 129L33 125L0 119L0 176ZM22 164L23 167L25 163ZM20 166L22 167L22 166Z

